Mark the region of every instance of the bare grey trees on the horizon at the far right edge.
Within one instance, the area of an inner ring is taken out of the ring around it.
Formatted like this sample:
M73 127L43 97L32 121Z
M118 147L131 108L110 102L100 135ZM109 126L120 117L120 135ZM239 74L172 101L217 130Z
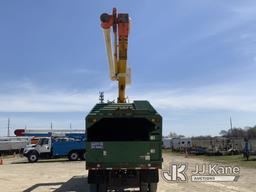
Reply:
M232 128L220 131L220 135L227 138L256 138L256 125L254 127Z

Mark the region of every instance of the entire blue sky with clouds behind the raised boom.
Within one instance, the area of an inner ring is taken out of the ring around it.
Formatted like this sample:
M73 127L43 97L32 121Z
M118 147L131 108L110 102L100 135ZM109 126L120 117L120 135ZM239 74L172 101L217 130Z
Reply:
M117 97L99 16L132 18L130 100L148 99L164 134L217 135L256 124L256 2L0 1L0 135L23 128L84 128Z

